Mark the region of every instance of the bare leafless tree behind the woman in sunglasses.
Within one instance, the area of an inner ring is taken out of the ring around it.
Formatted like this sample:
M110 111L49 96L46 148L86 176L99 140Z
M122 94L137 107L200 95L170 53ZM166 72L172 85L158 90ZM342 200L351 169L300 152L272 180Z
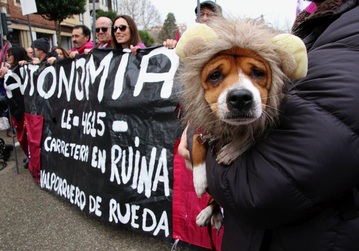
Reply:
M159 11L150 0L120 0L118 12L131 16L140 30L150 30L151 27L161 24Z

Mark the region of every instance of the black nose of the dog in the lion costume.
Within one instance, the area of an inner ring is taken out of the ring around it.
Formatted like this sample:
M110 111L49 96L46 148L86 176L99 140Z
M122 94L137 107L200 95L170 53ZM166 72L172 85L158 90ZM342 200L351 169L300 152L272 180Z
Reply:
M234 108L242 110L252 104L253 95L246 89L231 90L227 94L228 109Z

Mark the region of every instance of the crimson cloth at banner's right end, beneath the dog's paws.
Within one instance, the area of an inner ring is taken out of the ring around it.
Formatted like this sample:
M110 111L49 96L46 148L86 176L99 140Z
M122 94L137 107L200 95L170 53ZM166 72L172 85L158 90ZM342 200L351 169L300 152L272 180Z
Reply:
M193 186L193 174L186 168L185 160L178 155L179 143L180 139L176 141L173 152L173 238L211 248L207 228L200 228L196 224L196 217L207 206L209 196L205 194L201 199L197 198ZM212 228L213 242L217 250L220 250L223 227L218 236L216 232Z

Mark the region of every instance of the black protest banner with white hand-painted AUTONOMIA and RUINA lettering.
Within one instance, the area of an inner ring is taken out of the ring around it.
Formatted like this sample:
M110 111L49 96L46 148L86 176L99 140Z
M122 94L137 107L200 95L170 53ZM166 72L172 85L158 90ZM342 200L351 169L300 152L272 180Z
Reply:
M173 163L182 133L175 113L177 66L174 50L152 47L136 56L94 49L53 66L9 71L6 95L41 188L115 226L173 241ZM191 176L175 162L179 175ZM177 181L178 190L183 180ZM175 222L185 224L179 194Z

